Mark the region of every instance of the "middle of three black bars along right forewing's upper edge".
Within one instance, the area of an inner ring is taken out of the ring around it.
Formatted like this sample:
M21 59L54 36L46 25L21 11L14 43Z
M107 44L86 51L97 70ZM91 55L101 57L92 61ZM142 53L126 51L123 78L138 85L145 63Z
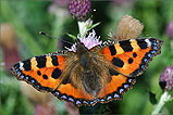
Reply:
M131 46L129 40L120 41L119 43L125 52L133 51L133 47Z

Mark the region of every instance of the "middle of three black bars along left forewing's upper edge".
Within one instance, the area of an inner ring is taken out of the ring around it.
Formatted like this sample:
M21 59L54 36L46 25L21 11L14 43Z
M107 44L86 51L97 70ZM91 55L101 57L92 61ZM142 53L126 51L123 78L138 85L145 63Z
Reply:
M41 56L36 56L36 61L37 61L37 67L42 68L46 67L46 55L41 55Z

